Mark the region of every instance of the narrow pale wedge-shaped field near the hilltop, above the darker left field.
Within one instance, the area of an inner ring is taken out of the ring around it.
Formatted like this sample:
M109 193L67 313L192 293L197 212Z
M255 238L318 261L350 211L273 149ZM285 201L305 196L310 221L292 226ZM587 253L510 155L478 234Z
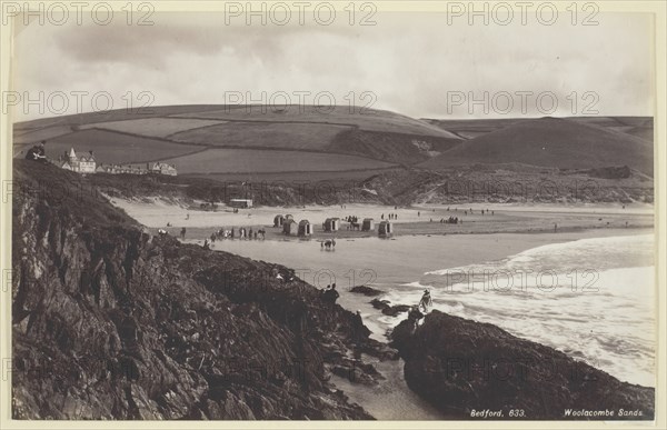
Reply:
M125 121L93 122L81 126L80 128L81 130L99 128L130 134L141 134L150 138L166 138L169 134L178 133L180 131L219 123L221 123L221 121L180 118L142 118Z

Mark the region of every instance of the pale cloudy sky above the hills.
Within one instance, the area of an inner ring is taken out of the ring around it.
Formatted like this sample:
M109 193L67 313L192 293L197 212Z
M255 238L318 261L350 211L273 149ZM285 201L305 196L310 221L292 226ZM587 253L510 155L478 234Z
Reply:
M18 22L13 119L61 114L62 93L67 113L109 100L113 108L208 104L239 94L281 104L278 93L287 93L293 103L320 97L417 118L653 114L647 14L600 13L597 26L573 26L565 14L545 26L530 13L525 26L517 17L507 26L448 23L444 13L378 12L365 27L346 14L330 26L306 17L305 26L293 17L287 26L246 26L243 17L228 26L222 13L155 13L152 26L120 16L107 26ZM40 92L41 113L24 103Z

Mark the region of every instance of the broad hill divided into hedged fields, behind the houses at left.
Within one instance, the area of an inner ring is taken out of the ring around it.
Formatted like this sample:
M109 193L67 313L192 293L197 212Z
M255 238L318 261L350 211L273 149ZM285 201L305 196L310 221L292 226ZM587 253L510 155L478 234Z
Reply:
M167 161L181 173L279 168L285 174L349 171L355 177L360 170L418 163L460 142L395 112L312 106L175 106L40 119L14 124L14 157L43 139L51 158L74 147L93 151L101 163ZM199 151L207 152L192 158Z

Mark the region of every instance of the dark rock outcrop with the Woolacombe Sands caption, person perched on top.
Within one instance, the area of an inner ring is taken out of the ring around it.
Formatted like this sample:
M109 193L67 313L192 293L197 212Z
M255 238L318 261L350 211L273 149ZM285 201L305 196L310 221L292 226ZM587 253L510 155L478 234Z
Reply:
M477 417L654 418L653 388L620 382L492 324L432 311L421 326L401 321L392 339L406 361L408 386L454 417L470 419L488 409L502 416Z

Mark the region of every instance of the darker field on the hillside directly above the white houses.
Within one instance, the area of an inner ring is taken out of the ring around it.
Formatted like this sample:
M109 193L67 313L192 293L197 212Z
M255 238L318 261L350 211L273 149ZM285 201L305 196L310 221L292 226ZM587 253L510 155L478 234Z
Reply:
M82 130L72 134L50 139L47 157L58 156L70 148L83 154L94 151L98 163L146 162L190 153L200 147L171 143L162 140L141 138L104 130Z

